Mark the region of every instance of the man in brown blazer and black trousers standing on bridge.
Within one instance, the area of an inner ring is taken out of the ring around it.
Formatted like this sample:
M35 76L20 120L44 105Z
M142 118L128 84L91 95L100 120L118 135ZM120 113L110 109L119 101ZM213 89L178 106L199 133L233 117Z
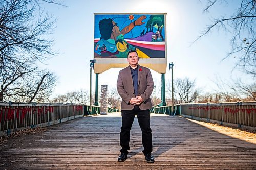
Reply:
M142 144L145 160L148 163L154 163L151 156L152 152L152 134L150 128L150 108L152 103L150 95L153 91L154 82L150 69L138 65L139 57L136 50L128 52L127 61L129 66L119 72L117 80L117 91L122 98L122 127L120 133L121 155L118 162L127 159L128 150L130 150L130 130L133 120L137 115L140 129L142 131Z

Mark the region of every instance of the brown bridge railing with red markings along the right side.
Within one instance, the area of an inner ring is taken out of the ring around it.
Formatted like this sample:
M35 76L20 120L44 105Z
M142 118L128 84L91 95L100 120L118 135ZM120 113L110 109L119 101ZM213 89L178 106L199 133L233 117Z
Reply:
M181 104L180 111L191 119L256 127L256 102Z

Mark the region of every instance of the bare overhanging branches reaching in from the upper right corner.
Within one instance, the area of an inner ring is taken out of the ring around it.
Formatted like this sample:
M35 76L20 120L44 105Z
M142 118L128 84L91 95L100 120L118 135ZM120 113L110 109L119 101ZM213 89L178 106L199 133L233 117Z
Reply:
M208 0L204 12L208 12L210 8L217 3L228 4L226 0ZM242 68L243 71L256 77L256 1L255 0L241 0L237 11L229 16L220 16L212 21L212 24L207 27L202 36L207 35L213 29L224 29L232 32L231 38L232 50L227 54L227 57L234 56L238 59L234 67ZM225 57L224 59L226 59ZM224 60L223 59L223 60Z

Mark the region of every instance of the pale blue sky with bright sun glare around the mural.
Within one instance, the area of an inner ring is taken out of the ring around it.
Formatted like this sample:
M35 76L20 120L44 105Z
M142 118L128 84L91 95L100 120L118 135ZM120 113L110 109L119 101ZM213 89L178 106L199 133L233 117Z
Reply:
M196 80L196 86L204 92L217 90L217 78L223 81L251 78L233 69L236 58L228 58L231 33L216 29L195 43L198 36L216 16L231 15L239 1L216 4L209 13L204 13L205 1L198 0L94 0L64 1L68 7L47 4L48 13L58 19L56 29L49 35L54 39L53 50L59 55L52 57L41 68L54 72L58 81L53 96L80 89L90 90L90 62L94 50L94 13L167 13L166 42L167 68L166 87L170 84L168 64L173 62L174 79L188 77ZM99 75L99 85L116 87L118 72L111 68ZM156 85L156 95L161 95L161 74L151 70ZM95 74L92 75L92 90L95 91Z

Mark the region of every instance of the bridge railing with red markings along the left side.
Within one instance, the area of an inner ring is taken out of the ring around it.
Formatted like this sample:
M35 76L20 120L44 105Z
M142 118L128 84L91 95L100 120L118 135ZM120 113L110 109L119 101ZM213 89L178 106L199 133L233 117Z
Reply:
M25 128L46 127L84 115L100 113L100 107L79 104L0 102L0 136Z

